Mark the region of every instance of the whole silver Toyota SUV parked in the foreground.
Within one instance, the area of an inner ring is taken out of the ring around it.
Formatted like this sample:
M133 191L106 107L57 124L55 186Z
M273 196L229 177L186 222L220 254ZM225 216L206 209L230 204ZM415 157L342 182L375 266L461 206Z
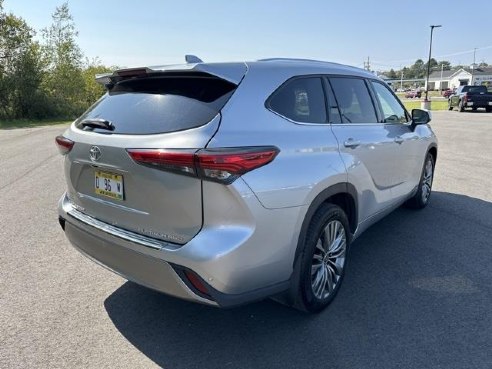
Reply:
M208 305L309 312L351 242L429 202L437 142L373 74L293 59L118 70L56 142L60 224L126 279Z

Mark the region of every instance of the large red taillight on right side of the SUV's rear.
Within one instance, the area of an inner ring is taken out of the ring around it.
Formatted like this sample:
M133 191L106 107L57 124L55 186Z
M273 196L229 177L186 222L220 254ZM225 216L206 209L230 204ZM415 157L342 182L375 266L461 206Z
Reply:
M230 184L241 175L270 163L276 147L239 147L196 152L165 149L128 149L131 158L143 165L204 180Z

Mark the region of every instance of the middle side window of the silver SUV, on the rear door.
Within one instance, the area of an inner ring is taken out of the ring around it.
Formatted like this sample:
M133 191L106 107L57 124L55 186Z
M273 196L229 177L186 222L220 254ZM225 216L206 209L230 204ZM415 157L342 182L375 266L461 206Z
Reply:
M378 123L376 110L360 78L330 77L343 123Z

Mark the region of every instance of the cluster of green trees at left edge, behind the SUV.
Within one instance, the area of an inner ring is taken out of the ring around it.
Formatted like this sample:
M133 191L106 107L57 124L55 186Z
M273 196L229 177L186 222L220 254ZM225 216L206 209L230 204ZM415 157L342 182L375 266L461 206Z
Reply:
M97 58L84 62L68 4L57 7L52 19L39 43L0 0L0 119L72 118L104 93L95 74L111 69Z

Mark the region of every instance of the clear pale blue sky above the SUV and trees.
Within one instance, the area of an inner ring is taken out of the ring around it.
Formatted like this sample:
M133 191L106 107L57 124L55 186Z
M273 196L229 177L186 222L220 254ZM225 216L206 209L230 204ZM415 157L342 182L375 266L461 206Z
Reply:
M4 0L35 30L63 0ZM492 0L70 0L78 44L89 59L135 67L184 62L297 57L373 70L432 56L452 64L492 64ZM458 6L459 5L459 6Z

